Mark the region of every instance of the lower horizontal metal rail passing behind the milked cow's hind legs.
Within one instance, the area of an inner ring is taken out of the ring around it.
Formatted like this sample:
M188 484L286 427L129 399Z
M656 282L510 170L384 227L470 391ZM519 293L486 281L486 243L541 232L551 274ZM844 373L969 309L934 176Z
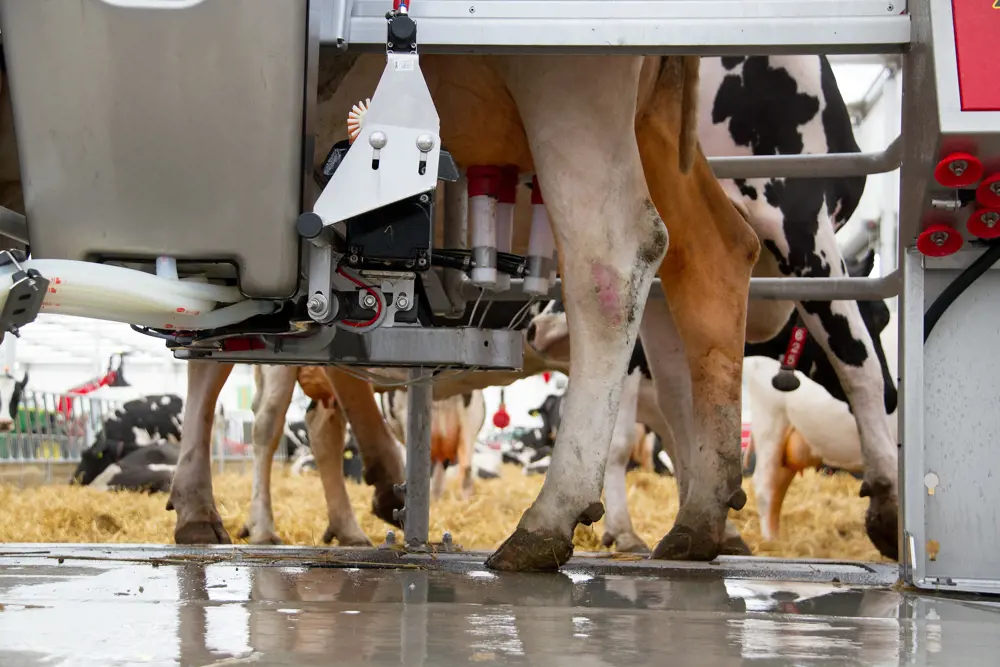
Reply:
M524 281L512 278L506 292L486 292L483 301L523 301ZM889 299L899 295L899 272L893 271L881 278L751 278L750 298L774 301L853 301L856 299ZM462 296L468 301L479 298L479 288L466 279L462 281ZM545 299L562 298L562 279L549 288ZM649 288L650 299L663 298L659 278L653 279Z

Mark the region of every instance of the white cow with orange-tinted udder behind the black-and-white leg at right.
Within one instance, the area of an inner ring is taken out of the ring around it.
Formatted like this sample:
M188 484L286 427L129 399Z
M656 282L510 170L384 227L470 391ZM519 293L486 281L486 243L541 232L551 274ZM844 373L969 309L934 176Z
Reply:
M881 301L874 303L885 308ZM881 329L881 346L896 369L898 332L896 318L888 308ZM864 309L862 309L864 312ZM878 331L873 330L873 333ZM753 472L757 511L760 513L764 539L777 539L781 504L795 473L805 468L828 466L857 473L864 470L859 426L850 406L842 397L832 395L824 385L807 374L796 373L801 385L782 392L771 384L777 361L766 357L747 358L747 400L752 411L753 447L756 466ZM892 386L892 385L889 385ZM883 413L889 432L897 435L895 395Z

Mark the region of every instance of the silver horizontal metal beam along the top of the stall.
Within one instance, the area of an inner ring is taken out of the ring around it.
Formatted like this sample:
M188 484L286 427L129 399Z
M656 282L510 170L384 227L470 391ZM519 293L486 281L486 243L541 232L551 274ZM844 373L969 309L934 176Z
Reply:
M919 0L918 0L919 1ZM422 0L424 53L896 53L910 41L905 0ZM321 39L379 50L385 3L325 0ZM697 46L692 46L697 45Z

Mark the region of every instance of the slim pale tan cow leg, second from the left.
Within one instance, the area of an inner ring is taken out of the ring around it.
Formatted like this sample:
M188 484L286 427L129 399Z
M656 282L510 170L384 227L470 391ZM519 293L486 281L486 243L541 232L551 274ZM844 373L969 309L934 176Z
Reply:
M281 544L274 526L271 504L271 468L285 428L285 413L295 391L295 366L267 366L260 369L254 404L253 483L250 492L250 517L239 537L251 544Z

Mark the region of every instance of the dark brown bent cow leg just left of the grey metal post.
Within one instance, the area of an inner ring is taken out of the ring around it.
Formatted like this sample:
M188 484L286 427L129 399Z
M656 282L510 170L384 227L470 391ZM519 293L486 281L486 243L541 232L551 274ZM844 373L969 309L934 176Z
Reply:
M383 521L401 527L399 521L392 518L392 510L401 509L403 501L392 487L406 479L403 458L396 439L379 412L372 386L336 367L328 366L324 370L358 439L365 466L365 482L375 487L372 512Z

